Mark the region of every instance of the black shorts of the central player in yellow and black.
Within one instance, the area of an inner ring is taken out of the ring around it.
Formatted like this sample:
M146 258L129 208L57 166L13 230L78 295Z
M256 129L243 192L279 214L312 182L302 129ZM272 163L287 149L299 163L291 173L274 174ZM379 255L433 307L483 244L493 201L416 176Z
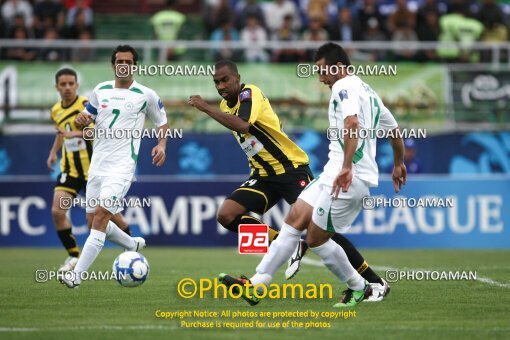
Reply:
M250 177L227 199L236 201L247 211L263 215L281 199L289 204L296 202L301 191L312 180L312 171L307 165L302 165L277 176Z

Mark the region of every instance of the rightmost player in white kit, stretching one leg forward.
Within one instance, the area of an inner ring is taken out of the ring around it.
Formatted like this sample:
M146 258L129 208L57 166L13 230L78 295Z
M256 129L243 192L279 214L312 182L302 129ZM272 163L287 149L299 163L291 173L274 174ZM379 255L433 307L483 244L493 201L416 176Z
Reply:
M384 106L372 88L356 75L348 75L342 65L350 65L344 49L334 43L322 45L315 57L321 70L319 80L331 88L329 102L329 125L345 133L331 138L328 162L324 172L303 190L297 202L285 218L280 234L271 243L268 253L249 280L220 274L220 280L228 285L245 285L242 297L251 305L259 299L249 290L251 285L269 285L275 272L292 255L301 233L308 229L306 242L321 257L326 267L341 281L347 283L340 302L334 307L353 307L372 294L371 286L349 263L345 251L333 242L335 232L343 233L352 224L362 208L363 197L369 188L378 185L378 169L375 161L376 134L366 139L360 129L398 129L391 112ZM335 67L332 67L335 66ZM324 71L324 72L322 72ZM397 134L393 134L397 135ZM394 153L393 184L398 192L406 182L404 144L402 138L390 138ZM380 285L381 295L387 294ZM234 286L237 289L239 286ZM252 288L253 289L253 288Z

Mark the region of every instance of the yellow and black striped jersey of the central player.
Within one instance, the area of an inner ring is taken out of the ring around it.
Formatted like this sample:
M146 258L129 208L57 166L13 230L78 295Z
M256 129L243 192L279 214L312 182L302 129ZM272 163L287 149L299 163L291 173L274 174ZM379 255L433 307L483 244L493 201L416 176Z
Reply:
M308 155L282 131L280 119L257 86L243 84L236 105L229 107L223 99L220 109L250 123L248 133L234 131L234 136L248 157L251 176L280 175L308 164Z

